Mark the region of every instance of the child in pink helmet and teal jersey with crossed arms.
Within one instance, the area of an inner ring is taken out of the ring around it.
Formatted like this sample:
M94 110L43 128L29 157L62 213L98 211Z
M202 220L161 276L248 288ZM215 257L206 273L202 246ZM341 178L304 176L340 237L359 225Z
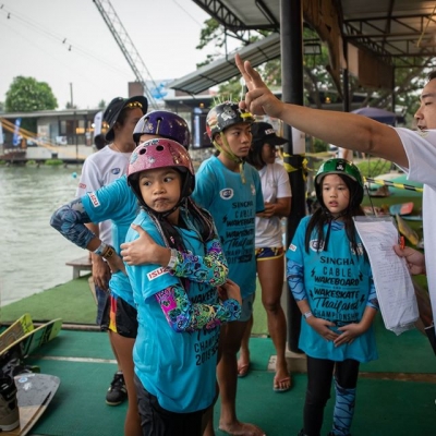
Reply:
M226 264L210 214L190 197L194 168L180 144L160 138L140 145L128 181L142 210L126 242L140 238L140 226L171 252L169 261L126 266L137 305L133 360L143 435L202 436L217 395L220 326L240 317L240 289L214 264L195 265L193 280L173 272L184 253L213 253Z

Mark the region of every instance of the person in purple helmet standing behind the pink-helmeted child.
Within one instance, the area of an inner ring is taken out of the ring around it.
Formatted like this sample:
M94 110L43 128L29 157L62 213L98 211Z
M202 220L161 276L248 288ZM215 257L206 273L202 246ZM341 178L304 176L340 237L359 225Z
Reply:
M156 137L168 137L178 141L186 149L191 141L186 121L178 114L165 110L156 110L146 113L140 119L133 131L133 140L136 145L140 141L144 142ZM112 251L109 252L111 253L111 257L108 258L107 262L113 274L109 282L110 299L108 300L116 300L117 304L109 305L108 308L110 312L110 308L116 310L119 305L122 305L123 308L121 312L126 315L123 319L125 324L129 324L129 328L123 326L123 328L118 331L118 328L121 327L121 323L118 323L117 326L117 318L116 323L110 324L108 328L119 349L120 360L122 360L120 363L121 366L123 366L124 380L129 393L129 408L125 419L125 434L129 436L141 434L140 415L137 413L136 395L133 383L134 365L132 358L137 320L132 287L126 275L123 272L124 264L119 254L120 244L124 242L130 225L135 219L138 210L137 198L129 187L126 175L123 175L95 192L87 193L63 205L55 211L50 222L55 229L71 242L83 249L97 252L99 255L105 255L105 246L101 246L101 240L88 230L85 223L101 222L108 219L112 221L114 253ZM136 255L141 256L140 263L155 262L156 255L159 253L155 250L155 243L147 245L147 249L150 249L150 251L145 253L145 255L143 246L130 247L125 251L130 253L128 259L130 259L131 256L133 257L136 253ZM208 258L206 258L206 261L210 262ZM190 268L185 268L184 265L189 265L191 262L193 262L193 259L184 255L178 274L186 274L186 270ZM204 259L195 258L195 264L198 262L202 263ZM107 318L109 318L109 315L110 314L106 313ZM120 320L120 317L118 317L118 320Z

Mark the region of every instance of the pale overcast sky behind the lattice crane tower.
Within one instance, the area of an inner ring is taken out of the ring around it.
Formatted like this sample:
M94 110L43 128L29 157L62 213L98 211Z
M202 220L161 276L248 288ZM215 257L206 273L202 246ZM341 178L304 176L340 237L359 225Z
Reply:
M216 51L195 49L208 15L192 0L110 3L155 82L192 73ZM47 82L59 109L71 88L83 109L128 96L134 73L93 0L5 0L0 7L0 101L19 75Z

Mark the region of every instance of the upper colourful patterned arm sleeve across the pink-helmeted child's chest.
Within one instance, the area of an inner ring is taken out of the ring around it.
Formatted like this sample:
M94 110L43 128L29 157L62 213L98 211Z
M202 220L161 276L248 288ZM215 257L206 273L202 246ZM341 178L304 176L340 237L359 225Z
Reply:
M229 268L218 237L207 243L207 254L178 252L177 262L170 272L177 277L185 277L192 281L207 282L217 287L226 282Z

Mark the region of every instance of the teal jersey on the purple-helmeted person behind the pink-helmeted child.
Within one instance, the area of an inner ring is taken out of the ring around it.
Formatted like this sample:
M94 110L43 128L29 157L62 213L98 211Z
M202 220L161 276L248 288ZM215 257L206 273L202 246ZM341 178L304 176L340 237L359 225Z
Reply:
M112 221L113 247L120 254L120 245L125 241L130 225L140 210L137 198L128 185L126 175L85 194L81 201L92 222L107 219ZM109 288L113 294L134 306L132 287L124 272L112 274Z

